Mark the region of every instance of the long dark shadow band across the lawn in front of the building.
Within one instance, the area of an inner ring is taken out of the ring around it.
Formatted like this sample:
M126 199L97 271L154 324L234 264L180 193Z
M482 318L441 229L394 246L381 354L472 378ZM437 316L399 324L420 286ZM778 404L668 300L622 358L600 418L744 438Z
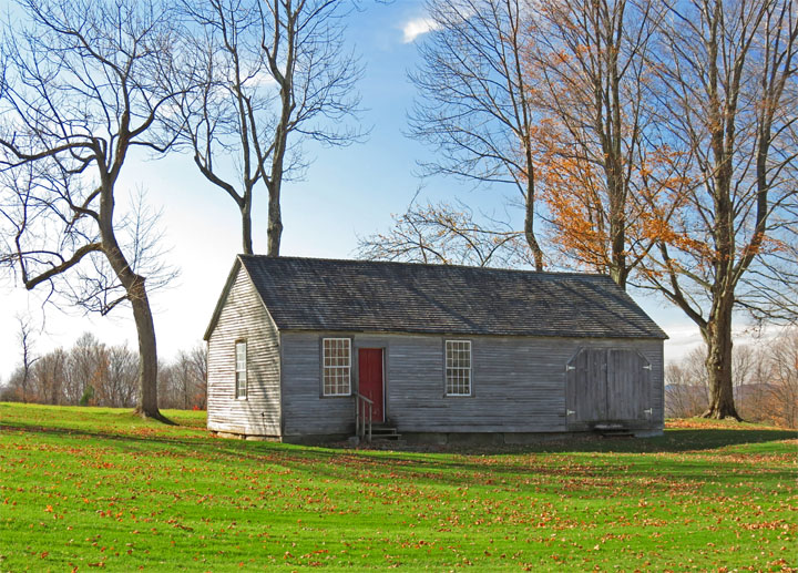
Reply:
M713 480L739 478L739 473L757 474L759 467L738 468L735 460L704 457L696 459L661 456L628 457L625 454L679 454L684 452L712 453L720 448L751 443L776 442L796 438L795 431L775 429L678 429L666 430L665 436L647 439L585 439L573 438L523 447L501 448L427 448L408 451L352 450L330 447L299 447L273 442L253 442L211 438L168 436L136 436L124 431L91 431L47 426L11 423L0 431L38 432L65 436L81 440L109 440L122 452L142 456L167 456L202 459L208 463L248 461L255 468L278 465L304 472L308 479L386 481L395 478L412 483L447 483L451 485L490 485L509 479L544 478L544 488L559 488L570 480L646 478L662 480L655 488L669 488L668 479L702 482L708 472ZM784 450L781 450L784 451ZM580 454L607 453L598 458ZM561 456L565 454L565 456ZM241 471L246 472L242 465ZM725 474L724 467L736 468L735 475ZM770 468L770 473L790 478L789 468ZM667 478L667 479L665 479Z

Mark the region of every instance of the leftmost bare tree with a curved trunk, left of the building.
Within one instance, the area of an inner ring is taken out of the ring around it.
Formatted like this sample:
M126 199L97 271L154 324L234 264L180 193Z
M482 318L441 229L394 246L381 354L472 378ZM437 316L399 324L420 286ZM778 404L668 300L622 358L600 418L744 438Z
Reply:
M160 418L157 356L146 277L121 244L117 183L134 150L162 153L155 133L175 93L176 19L158 0L20 0L27 19L2 44L0 168L12 185L2 215L4 260L28 289L64 290L79 265L110 267L139 335L137 411ZM114 287L102 279L99 293ZM95 287L96 285L93 285Z

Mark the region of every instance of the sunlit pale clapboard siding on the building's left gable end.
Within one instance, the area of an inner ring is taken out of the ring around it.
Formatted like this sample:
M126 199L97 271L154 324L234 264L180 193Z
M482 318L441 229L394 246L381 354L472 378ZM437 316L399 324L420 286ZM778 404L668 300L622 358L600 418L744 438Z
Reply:
M247 398L235 395L235 344L247 342ZM208 339L207 426L211 430L280 434L279 335L242 268Z

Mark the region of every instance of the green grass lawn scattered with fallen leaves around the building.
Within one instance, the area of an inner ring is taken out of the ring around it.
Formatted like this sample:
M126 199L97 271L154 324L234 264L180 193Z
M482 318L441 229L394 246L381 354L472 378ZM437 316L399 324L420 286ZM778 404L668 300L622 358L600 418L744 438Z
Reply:
M393 452L165 413L0 403L0 571L798 566L796 432Z

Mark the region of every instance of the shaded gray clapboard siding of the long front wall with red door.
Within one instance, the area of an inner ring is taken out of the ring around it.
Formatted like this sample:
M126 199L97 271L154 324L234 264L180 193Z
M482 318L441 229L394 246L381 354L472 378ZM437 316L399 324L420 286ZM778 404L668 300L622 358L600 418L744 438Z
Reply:
M352 339L354 388L357 349L385 348L386 417L400 432L567 431L565 365L586 346L634 349L646 358L653 408L647 423L662 428L662 340L283 332L286 436L354 431L354 398L321 397L320 340L332 336ZM446 396L447 339L472 342L472 396Z

